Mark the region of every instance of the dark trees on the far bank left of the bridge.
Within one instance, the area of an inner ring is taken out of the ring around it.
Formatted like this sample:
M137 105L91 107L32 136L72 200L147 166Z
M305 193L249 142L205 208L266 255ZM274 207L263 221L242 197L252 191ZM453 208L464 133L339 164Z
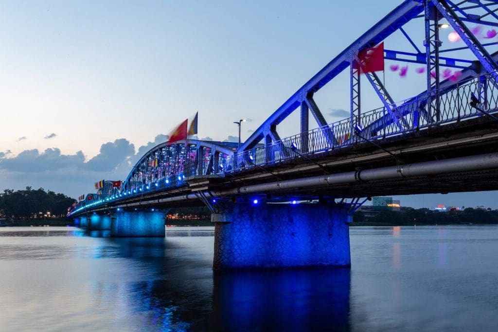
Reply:
M25 190L5 189L0 193L0 212L3 217L29 219L36 217L65 217L67 209L76 200L64 194L45 191L43 188ZM40 214L41 213L41 214Z

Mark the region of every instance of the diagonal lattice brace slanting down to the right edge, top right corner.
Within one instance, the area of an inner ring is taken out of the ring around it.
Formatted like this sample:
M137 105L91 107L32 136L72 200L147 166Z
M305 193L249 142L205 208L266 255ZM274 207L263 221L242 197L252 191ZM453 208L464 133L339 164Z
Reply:
M469 28L462 22L460 17L455 13L450 5L444 0L431 0L439 12L446 18L448 23L453 27L462 38L462 41L469 47L469 50L474 53L479 62L483 65L488 73L493 77L495 84L498 83L498 65L493 60L492 56L477 40L476 36L469 31Z

